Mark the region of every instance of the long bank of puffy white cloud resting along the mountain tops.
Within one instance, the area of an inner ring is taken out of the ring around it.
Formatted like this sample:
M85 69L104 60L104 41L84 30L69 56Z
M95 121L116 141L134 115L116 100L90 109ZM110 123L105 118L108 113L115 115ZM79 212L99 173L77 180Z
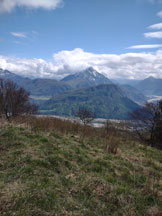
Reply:
M162 50L155 53L94 54L82 49L61 51L54 61L20 59L0 56L0 68L27 77L63 78L66 75L94 67L109 78L162 78Z

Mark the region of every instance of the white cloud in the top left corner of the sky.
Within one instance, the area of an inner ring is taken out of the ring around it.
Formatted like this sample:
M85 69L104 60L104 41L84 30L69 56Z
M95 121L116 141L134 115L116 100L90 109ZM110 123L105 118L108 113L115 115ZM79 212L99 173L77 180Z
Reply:
M16 7L54 10L59 7L61 3L62 0L0 0L0 13L9 13Z

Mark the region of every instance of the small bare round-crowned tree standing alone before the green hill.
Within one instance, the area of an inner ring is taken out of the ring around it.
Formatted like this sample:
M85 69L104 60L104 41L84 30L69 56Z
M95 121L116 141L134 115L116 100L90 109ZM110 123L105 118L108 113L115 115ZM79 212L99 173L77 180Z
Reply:
M95 114L86 107L79 107L76 116L80 118L84 125L89 124L93 119L95 119Z

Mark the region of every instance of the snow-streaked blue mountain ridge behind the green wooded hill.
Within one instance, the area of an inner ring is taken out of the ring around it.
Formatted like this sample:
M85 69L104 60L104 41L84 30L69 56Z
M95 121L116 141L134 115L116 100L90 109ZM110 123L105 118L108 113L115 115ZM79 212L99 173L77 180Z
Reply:
M98 73L92 67L86 70L69 75L60 81L54 79L29 79L8 70L0 69L0 77L3 79L11 79L16 82L19 86L25 88L33 96L56 96L61 93L66 93L81 88L88 88L97 86L100 84L112 84L107 77ZM137 89L131 85L119 85L120 88L125 92L125 95L142 104L146 101L146 97Z

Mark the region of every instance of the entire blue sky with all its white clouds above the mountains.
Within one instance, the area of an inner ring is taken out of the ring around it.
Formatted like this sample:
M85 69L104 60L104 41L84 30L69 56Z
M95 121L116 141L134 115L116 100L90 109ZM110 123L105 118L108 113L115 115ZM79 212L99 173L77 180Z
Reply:
M162 78L162 0L0 0L0 68Z

